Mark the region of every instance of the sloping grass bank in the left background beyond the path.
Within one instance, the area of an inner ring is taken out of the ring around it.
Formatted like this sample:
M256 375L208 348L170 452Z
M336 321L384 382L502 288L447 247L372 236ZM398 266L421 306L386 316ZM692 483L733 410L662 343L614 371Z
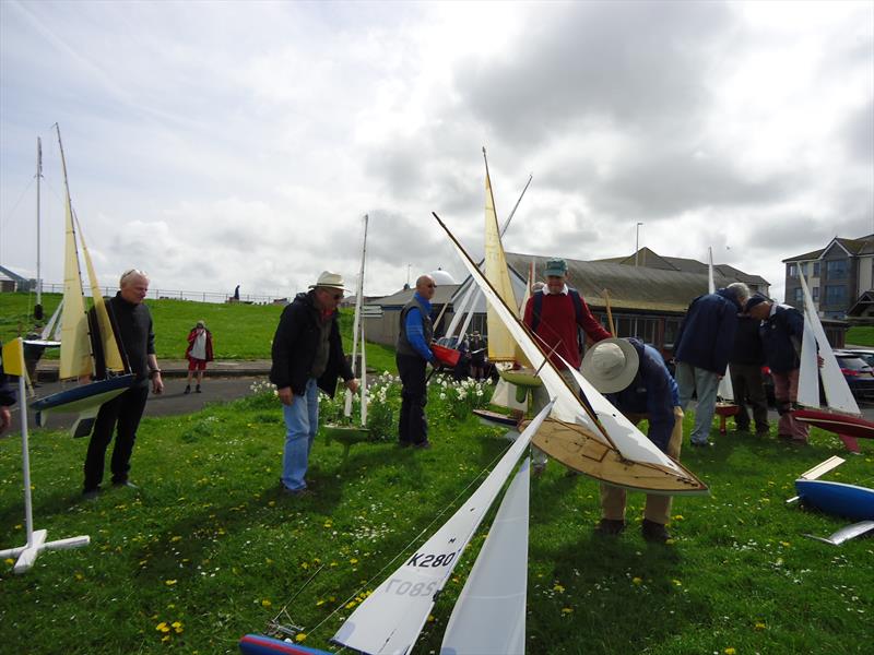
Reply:
M24 336L32 327L36 296L26 293L0 294L0 341ZM60 294L44 294L46 320L60 302ZM211 303L190 300L146 300L155 325L155 350L161 359L182 359L188 332L204 320L213 333L216 359L270 359L270 345L283 308L276 305ZM353 311L341 310L341 332L346 352L352 352ZM47 358L57 357L57 349ZM377 371L397 371L391 348L367 345L367 365Z

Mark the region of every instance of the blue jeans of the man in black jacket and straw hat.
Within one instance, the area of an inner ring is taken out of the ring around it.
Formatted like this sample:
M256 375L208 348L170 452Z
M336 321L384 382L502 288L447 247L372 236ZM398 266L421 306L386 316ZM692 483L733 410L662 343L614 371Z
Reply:
M295 395L291 405L283 405L285 417L285 452L282 456L282 484L294 491L306 489L304 476L309 465L309 451L319 429L319 388L316 378L307 380L304 395Z

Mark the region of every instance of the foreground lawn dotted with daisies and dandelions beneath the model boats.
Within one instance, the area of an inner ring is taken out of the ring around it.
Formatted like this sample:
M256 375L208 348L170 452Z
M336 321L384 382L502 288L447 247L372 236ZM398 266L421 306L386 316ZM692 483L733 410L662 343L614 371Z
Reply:
M263 631L286 604L304 643L327 648L344 605L388 576L508 446L496 430L453 419L458 403L436 394L429 451L364 443L344 463L342 446L319 438L309 499L279 492L283 424L267 396L145 419L132 463L142 492L108 490L92 502L79 498L86 443L35 431L36 527L49 539L90 534L92 544L45 552L22 576L0 562L3 650L235 653L241 634ZM648 545L635 521L619 538L593 536L598 485L565 477L560 465L532 483L529 653L870 652L874 541L806 539L845 522L784 504L800 473L846 454L838 441L817 430L807 448L713 439L714 449L683 453L712 493L674 502L669 546ZM872 445L828 477L871 486ZM1 441L2 547L24 539L20 465L19 440ZM629 496L629 519L642 499ZM469 555L416 652L439 651ZM180 632L157 629L176 621Z

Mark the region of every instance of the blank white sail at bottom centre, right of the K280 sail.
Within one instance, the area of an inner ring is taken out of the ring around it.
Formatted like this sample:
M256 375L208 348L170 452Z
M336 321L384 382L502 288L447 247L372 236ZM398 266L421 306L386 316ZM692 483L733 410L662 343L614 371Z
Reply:
M440 655L522 655L528 592L529 462L504 495L452 608Z

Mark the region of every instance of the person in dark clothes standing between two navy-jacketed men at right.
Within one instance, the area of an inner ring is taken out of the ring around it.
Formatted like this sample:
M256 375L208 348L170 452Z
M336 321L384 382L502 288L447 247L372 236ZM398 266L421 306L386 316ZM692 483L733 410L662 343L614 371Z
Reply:
M734 403L737 405L734 425L739 431L748 432L752 409L753 420L756 422L756 437L767 437L769 431L768 398L761 377L765 352L761 347L761 336L758 333L759 322L747 313L737 317L737 332L734 334L729 370L731 371L731 386L734 390Z

